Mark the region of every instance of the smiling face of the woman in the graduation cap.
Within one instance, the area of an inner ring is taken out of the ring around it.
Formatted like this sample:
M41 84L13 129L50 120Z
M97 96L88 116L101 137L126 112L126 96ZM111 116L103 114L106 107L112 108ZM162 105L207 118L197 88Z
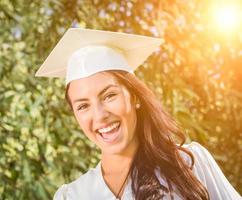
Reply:
M70 83L74 115L102 154L126 154L138 145L136 110L129 91L107 72Z

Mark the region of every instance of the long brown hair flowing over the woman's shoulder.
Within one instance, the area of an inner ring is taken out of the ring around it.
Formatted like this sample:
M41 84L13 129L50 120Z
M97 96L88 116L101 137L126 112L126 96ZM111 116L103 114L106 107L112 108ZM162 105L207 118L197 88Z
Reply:
M208 200L207 189L192 172L194 157L182 146L185 136L181 128L164 111L153 92L131 73L121 70L108 72L127 87L141 104L141 108L137 110L136 127L139 147L130 169L135 199L158 200L162 199L165 193L169 193L174 199L172 191L176 189L183 199ZM70 104L68 86L66 99ZM177 139L180 140L179 145ZM191 158L191 166L181 157L181 151ZM166 180L168 187L159 182L155 170Z

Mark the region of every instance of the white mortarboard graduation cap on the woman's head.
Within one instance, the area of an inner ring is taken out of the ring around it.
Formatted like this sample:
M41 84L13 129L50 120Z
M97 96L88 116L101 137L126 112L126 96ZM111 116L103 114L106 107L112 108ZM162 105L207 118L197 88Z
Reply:
M143 35L70 28L35 76L65 77L68 84L105 70L133 73L162 42Z

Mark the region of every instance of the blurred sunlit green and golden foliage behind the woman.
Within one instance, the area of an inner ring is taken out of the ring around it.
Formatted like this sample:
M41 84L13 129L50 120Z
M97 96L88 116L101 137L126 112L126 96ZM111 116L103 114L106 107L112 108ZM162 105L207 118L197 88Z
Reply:
M52 199L98 162L64 80L34 77L70 26L162 37L136 75L242 193L242 7L226 3L1 0L0 199Z

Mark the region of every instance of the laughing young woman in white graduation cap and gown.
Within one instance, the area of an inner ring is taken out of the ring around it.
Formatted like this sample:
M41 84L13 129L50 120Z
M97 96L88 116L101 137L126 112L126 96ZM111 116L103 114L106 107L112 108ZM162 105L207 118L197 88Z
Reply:
M175 121L134 75L160 42L70 29L37 72L66 77L77 122L101 149L96 168L62 185L55 200L241 199L204 147L184 145ZM57 59L61 50L64 60Z

